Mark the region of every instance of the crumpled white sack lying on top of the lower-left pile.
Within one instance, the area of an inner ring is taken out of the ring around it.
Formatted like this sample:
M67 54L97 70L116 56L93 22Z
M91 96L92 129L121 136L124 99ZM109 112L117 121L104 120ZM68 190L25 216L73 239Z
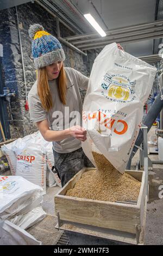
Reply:
M22 229L43 220L43 189L21 176L0 176L0 220Z

